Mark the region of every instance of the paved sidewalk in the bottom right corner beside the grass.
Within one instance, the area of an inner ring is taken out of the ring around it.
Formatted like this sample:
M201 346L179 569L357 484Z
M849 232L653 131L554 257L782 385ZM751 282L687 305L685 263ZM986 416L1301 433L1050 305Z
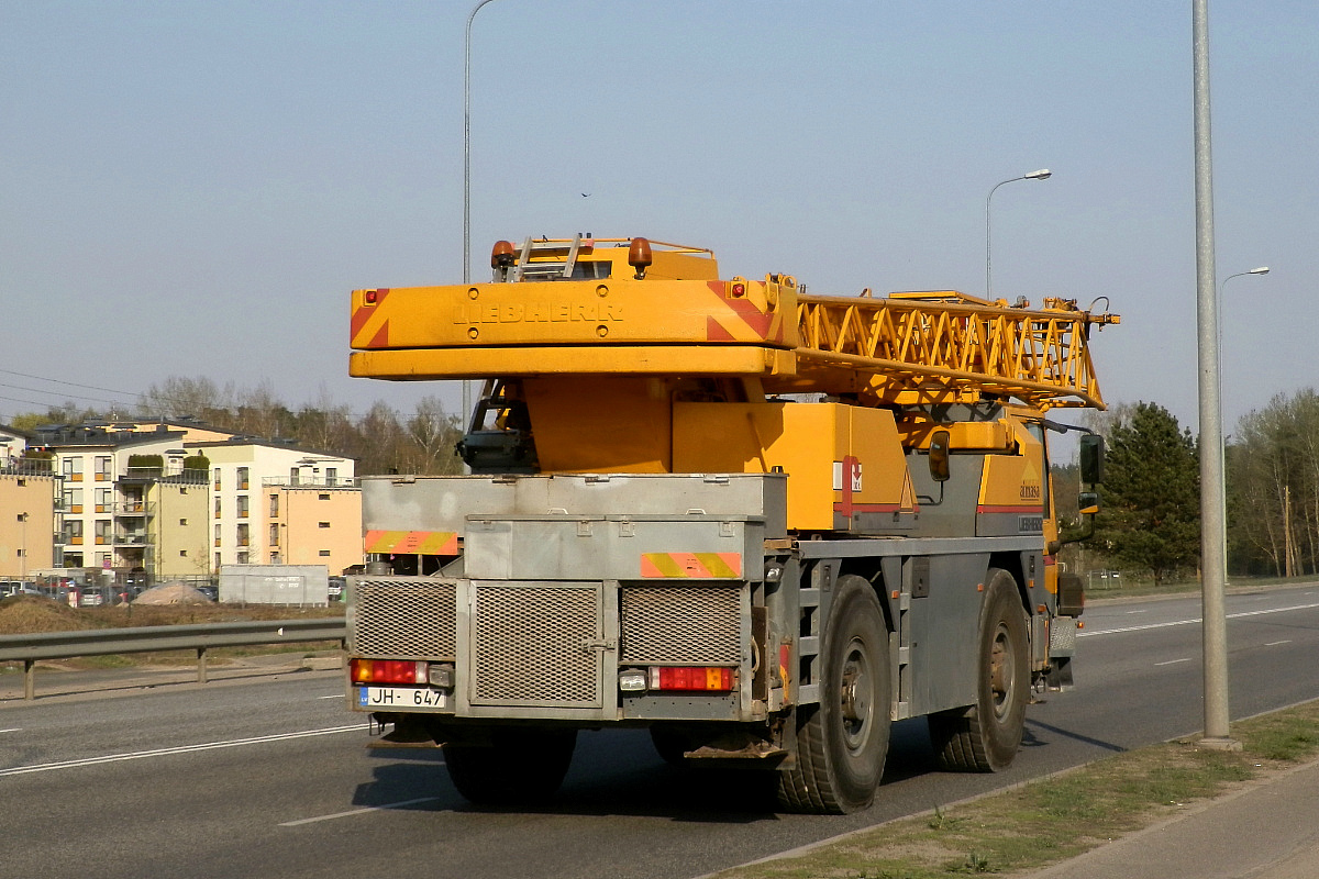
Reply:
M1315 879L1319 760L1020 879Z

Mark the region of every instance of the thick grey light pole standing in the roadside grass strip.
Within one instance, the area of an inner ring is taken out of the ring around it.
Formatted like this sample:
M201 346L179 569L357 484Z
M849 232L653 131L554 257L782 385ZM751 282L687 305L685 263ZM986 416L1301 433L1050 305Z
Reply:
M1227 493L1219 310L1213 283L1213 157L1210 134L1210 4L1191 4L1191 100L1195 133L1195 290L1200 370L1200 604L1204 651L1204 747L1240 750L1228 706Z

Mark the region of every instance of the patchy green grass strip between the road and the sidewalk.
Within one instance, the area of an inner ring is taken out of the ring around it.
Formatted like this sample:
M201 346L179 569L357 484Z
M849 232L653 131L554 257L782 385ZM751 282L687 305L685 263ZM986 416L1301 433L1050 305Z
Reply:
M1232 735L1241 751L1203 749L1196 739L1154 745L719 876L947 879L1037 870L1314 758L1319 701L1241 721Z

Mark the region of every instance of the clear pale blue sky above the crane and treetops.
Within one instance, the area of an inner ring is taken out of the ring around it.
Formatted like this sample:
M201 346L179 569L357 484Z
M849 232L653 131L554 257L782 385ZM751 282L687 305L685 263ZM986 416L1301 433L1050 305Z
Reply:
M169 376L456 405L350 380L347 319L353 287L460 281L471 8L0 0L0 422ZM1273 268L1227 286L1231 432L1319 385L1319 4L1210 21L1217 277ZM1049 167L993 198L995 294L1109 297L1105 397L1195 430L1191 109L1190 1L496 0L474 274L594 232L814 293L983 293L989 188Z

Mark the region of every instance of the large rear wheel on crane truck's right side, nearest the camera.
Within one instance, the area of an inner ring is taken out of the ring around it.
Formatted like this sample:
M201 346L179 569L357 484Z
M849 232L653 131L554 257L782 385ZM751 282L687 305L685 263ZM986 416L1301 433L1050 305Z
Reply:
M797 709L797 760L780 772L778 801L842 814L874 799L889 750L889 631L865 579L839 577L822 647L820 702Z

